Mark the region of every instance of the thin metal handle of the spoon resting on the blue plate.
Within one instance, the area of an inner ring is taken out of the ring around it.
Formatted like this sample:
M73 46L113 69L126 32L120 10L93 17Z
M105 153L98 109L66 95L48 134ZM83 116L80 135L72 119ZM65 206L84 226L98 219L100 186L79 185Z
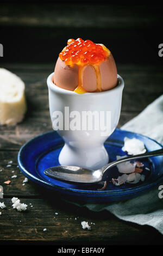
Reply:
M154 151L146 152L144 154L128 156L128 157L125 157L123 159L116 160L114 162L106 164L101 170L104 173L109 168L114 167L117 164L122 163L122 162L126 162L126 161L129 161L129 160L134 160L134 159L140 159L140 158L143 158L143 157L160 156L160 155L163 155L163 148L159 149L159 150L154 150Z

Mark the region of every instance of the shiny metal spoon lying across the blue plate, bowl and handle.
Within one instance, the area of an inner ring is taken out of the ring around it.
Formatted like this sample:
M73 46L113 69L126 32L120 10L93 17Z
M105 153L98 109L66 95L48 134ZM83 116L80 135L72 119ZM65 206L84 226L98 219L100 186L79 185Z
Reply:
M143 157L149 156L159 156L163 155L163 148L151 152L146 152L145 154L139 154L134 156L125 157L117 161L106 164L104 167L98 170L86 169L78 166L55 166L48 168L44 173L54 179L77 182L80 184L91 184L102 181L103 174L106 170L109 170L111 167L116 166L117 164L134 160L141 159Z

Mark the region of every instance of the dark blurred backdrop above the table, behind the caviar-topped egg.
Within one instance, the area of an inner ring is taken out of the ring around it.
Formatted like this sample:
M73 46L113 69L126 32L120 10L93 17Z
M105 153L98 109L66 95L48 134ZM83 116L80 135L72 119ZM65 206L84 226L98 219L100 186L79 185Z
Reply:
M1 2L3 62L55 62L67 39L103 43L116 63L162 65L159 4L104 1ZM2 61L2 60L1 60Z

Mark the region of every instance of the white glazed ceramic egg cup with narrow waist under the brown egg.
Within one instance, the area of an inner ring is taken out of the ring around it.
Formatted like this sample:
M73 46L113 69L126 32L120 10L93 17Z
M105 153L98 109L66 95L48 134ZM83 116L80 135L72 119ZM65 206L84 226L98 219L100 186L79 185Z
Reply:
M111 90L99 93L77 94L70 90L65 90L55 86L52 82L53 73L47 78L49 91L49 111L52 123L54 123L54 113L62 113L64 125L66 116L65 107L68 113L78 112L82 117L83 111L110 112L110 131L107 135L102 135L105 127L99 130L72 130L65 128L57 130L64 139L65 145L59 155L59 163L68 166L81 166L84 168L98 169L109 161L108 153L104 148L105 140L116 129L121 112L122 91L124 81L118 75L117 86ZM75 111L75 112L73 112ZM70 120L69 120L70 121ZM104 122L103 122L104 124ZM64 126L65 127L65 126ZM55 129L55 125L53 129Z

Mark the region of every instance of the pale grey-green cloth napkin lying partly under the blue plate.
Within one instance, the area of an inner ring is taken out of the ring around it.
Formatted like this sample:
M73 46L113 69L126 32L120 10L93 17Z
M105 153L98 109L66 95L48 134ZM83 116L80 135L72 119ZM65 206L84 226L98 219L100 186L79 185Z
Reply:
M163 95L121 129L142 133L163 144ZM163 234L163 198L159 198L158 188L156 186L142 196L118 203L77 205L92 211L108 210L121 220L151 225Z

